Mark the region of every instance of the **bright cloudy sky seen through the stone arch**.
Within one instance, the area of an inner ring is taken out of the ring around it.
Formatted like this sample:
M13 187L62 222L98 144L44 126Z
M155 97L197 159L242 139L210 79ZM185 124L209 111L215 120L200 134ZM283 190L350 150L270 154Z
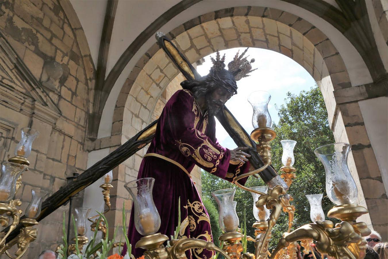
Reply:
M242 53L244 49L234 48L220 51L221 57L223 54L226 54L225 68L232 61L237 51L240 50L240 53ZM310 90L311 87L315 86L315 81L300 64L278 52L249 48L247 55L249 55L249 61L252 58L255 59L255 62L252 63L252 68L257 68L257 70L250 73L250 76L237 81L237 94L227 101L226 106L246 132L250 134L253 130L253 109L247 99L251 92L264 90L270 93L271 99L268 104L268 111L271 115L272 123L277 123L279 116L275 106L280 107L285 103L287 92L299 94L302 90ZM205 62L201 66L197 66L197 71L202 76L207 75L213 65L210 56L215 57L215 54L204 57ZM236 148L236 144L217 119L216 122L216 137L221 146L229 149Z

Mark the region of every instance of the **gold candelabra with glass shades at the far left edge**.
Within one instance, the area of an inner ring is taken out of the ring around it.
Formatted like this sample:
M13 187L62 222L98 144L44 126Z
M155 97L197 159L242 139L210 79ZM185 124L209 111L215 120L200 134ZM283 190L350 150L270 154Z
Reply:
M31 153L31 145L38 136L38 131L23 128L21 129L21 140L15 149L15 156L9 158L8 162L1 163L0 177L0 224L6 228L0 233L0 255L6 254L9 258L19 259L26 251L31 242L36 240L38 224L36 217L40 214L43 199L48 195L45 191L32 190L32 199L25 210L24 217L21 217L23 211L19 209L22 202L15 199L17 191L22 184L22 175L28 170L29 161L27 157ZM7 242L16 226L21 223L23 227L19 234ZM11 248L16 246L15 252L10 252ZM13 254L13 255L12 255Z

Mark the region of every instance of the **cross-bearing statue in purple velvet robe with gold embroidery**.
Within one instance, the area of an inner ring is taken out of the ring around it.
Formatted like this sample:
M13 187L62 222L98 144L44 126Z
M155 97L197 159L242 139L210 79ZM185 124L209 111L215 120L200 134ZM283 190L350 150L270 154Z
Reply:
M243 54L238 57L237 53L232 62L248 62L245 58L241 59ZM250 157L244 152L245 147L233 150L223 148L215 135L214 116L232 95L237 94L236 78L245 76L242 75L244 71L239 67L231 71L236 64L230 66L230 63L229 71L226 70L225 55L220 58L218 52L212 61L213 67L208 75L200 80L182 82L184 90L175 92L166 103L137 176L138 179L155 178L153 198L161 217L160 233L167 236L174 234L180 210L182 222L179 235L208 242L213 241L210 218L190 172L194 165L198 165L211 174L233 182L238 174L248 172L247 157ZM239 182L244 184L246 178L242 180ZM141 237L135 228L132 209L128 239L134 247ZM125 252L126 247L123 254ZM143 252L142 249L132 249L136 258L142 256ZM206 249L194 249L190 255L192 258L211 256L213 252Z

